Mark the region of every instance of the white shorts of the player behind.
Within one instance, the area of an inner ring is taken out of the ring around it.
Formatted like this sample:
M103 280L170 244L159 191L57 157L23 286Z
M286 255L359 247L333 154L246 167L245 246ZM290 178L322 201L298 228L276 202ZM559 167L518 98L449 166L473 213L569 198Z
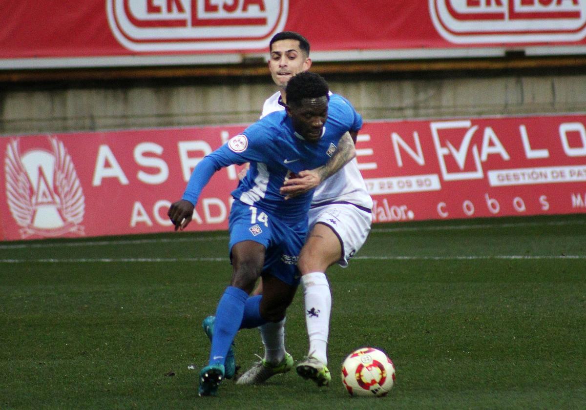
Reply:
M372 224L372 213L350 203L331 203L309 210L309 231L316 223L327 225L336 234L342 245L343 255L338 265L346 268L348 260L366 242Z

